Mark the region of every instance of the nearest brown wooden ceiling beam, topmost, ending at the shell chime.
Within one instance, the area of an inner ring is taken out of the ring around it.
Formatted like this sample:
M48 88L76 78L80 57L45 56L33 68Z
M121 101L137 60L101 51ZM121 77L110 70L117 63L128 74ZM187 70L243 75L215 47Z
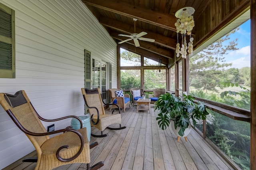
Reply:
M82 0L82 2L86 5L95 6L117 14L136 18L140 21L157 25L165 29L176 31L176 27L174 26L176 17L170 14L141 8L120 0Z

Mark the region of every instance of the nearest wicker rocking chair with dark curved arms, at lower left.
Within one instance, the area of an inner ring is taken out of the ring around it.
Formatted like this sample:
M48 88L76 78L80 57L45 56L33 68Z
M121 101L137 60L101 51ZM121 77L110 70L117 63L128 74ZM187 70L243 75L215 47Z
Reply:
M59 119L47 120L36 112L24 90L14 95L0 93L0 104L14 123L33 143L37 158L28 158L24 162L37 162L35 170L50 170L65 164L86 163L88 170L96 170L104 165L98 162L90 167L90 145L86 128L75 130L70 128L47 132L42 121L58 121L76 116L66 116ZM65 133L66 132L66 133ZM49 135L60 133L54 137ZM94 143L96 146L97 143Z

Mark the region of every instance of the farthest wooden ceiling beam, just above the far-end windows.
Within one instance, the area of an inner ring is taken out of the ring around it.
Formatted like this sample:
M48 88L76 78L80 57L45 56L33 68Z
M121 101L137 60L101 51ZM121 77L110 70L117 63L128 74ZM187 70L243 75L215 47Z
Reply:
M118 40L116 40L116 42L118 43ZM138 55L143 55L144 57L147 57L148 59L151 59L154 61L158 61L159 58L161 58L162 64L165 64L165 65L168 64L168 58L159 56L156 53L152 53L150 51L147 51L147 50L144 50L141 48L136 48L136 51L135 51L134 45L130 45L128 43L122 43L122 44L118 44L118 47L128 50L128 51L131 51L132 53L136 53Z

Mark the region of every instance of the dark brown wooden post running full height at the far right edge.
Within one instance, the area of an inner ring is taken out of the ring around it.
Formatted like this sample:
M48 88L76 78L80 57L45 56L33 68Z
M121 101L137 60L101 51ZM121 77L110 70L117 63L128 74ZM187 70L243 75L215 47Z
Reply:
M256 170L256 0L251 0L251 143L250 169Z

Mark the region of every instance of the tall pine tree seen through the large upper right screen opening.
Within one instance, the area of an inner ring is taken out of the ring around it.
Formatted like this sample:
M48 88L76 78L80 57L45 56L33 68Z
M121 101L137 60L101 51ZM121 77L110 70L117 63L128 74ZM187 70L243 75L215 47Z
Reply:
M230 35L239 28L234 29L224 37L218 39L215 43L203 49L200 53L190 57L189 61L189 75L190 86L197 89L217 91L216 86L219 84L221 78L224 78L223 72L231 63L224 63L228 51L237 50L237 39L230 41ZM228 42L228 45L223 45ZM226 79L226 78L225 78Z

